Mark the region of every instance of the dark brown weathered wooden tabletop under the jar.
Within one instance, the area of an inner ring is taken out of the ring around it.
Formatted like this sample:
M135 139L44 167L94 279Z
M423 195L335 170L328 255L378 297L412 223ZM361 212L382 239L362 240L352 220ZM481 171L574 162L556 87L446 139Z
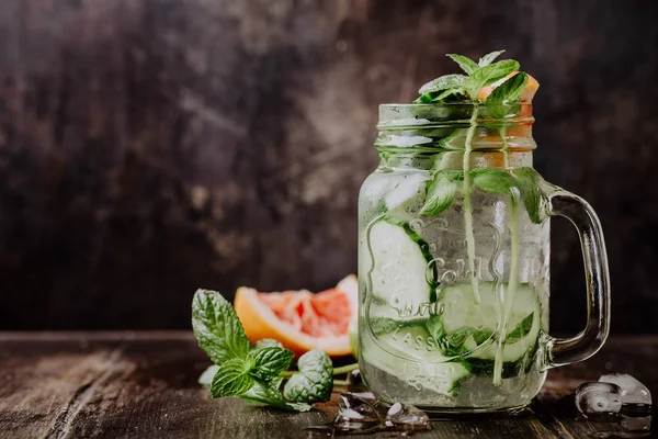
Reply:
M208 364L186 331L0 333L0 438L308 438L321 436L306 427L336 414L337 394L304 414L213 399L196 383ZM564 414L559 398L606 372L631 373L656 394L657 364L658 337L612 338L589 361L551 371L525 415L436 420L416 437L647 436Z

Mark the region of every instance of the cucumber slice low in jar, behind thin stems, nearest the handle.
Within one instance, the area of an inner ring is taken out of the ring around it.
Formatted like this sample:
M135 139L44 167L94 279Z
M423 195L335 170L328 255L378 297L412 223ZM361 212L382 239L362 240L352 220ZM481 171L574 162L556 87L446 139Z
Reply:
M492 335L498 327L494 283L480 283L479 304L475 303L469 284L444 288L438 301L443 307L439 316L442 334L438 336L444 339L442 346L449 350L445 353L454 354L461 348L462 353L470 352L469 358L494 360L497 347ZM518 361L533 350L540 335L541 315L536 292L527 284L519 285L508 322L504 362Z

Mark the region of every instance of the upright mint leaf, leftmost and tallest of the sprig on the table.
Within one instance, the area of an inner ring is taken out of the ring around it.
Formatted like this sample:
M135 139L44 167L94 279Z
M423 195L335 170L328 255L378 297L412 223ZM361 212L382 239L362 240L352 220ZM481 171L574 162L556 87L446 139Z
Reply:
M215 364L246 359L249 340L234 307L216 291L197 290L192 301L192 329Z

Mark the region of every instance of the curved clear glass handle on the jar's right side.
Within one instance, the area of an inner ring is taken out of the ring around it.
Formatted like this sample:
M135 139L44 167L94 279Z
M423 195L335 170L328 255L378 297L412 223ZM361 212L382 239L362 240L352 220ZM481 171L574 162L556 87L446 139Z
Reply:
M546 367L587 360L601 349L610 333L610 274L603 230L594 210L567 191L548 195L551 216L563 216L578 229L587 283L587 326L572 338L548 337Z

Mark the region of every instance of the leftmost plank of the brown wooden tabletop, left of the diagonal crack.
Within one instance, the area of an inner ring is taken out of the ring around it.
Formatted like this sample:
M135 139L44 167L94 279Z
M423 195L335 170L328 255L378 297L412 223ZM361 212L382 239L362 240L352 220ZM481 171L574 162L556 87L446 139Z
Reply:
M47 350L36 345L0 346L0 437L36 438L66 430L98 382L128 365L120 359L117 339L93 347L55 342Z

